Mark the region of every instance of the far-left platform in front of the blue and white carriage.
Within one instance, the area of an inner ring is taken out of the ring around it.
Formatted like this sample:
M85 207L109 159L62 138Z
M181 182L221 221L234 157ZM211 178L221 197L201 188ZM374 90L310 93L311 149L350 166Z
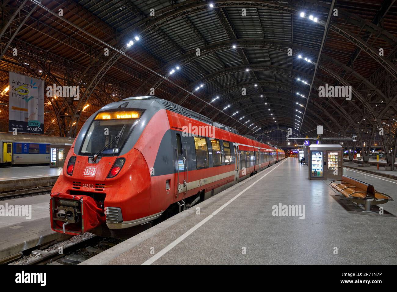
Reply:
M50 166L23 166L0 168L0 198L13 192L34 193L37 188L54 186L60 170Z

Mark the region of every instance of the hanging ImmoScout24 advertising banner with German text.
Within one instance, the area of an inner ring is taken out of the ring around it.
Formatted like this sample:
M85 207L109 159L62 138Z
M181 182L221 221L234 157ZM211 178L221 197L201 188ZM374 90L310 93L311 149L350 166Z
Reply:
M44 81L10 71L8 131L44 134Z

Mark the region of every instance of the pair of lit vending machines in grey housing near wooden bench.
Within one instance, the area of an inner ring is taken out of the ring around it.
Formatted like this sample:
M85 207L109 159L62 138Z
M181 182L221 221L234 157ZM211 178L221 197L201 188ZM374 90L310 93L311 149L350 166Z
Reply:
M343 149L341 145L310 145L307 151L309 180L341 180Z

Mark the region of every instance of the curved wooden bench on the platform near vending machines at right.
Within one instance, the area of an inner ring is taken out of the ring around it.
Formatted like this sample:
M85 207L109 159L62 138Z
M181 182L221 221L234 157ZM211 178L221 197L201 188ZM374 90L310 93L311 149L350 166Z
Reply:
M371 205L380 205L388 201L394 201L389 195L380 193L374 186L350 176L342 176L342 180L334 180L330 186L339 191L349 200L358 204L364 204L364 211L370 212Z

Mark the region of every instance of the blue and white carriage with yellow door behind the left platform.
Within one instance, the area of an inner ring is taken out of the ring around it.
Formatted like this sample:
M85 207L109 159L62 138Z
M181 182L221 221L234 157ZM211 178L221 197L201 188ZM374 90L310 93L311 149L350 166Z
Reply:
M0 133L0 166L49 164L51 143L72 143L69 138L35 134Z

